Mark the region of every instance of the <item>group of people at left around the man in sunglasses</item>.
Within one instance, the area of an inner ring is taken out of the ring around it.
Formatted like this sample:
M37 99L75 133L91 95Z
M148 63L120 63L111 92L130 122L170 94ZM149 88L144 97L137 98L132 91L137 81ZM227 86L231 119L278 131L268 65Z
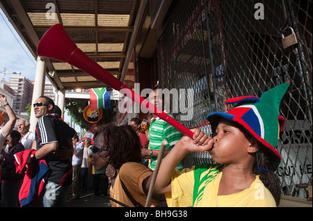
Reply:
M91 139L79 142L77 132L62 120L61 109L53 100L46 96L35 100L35 134L24 119L13 130L17 117L6 96L1 94L0 102L8 114L8 122L0 130L1 206L65 206L71 186L70 200L78 200L79 192L90 188L95 195L107 194L105 171L93 167L93 154L99 148ZM33 185L35 173L40 177Z

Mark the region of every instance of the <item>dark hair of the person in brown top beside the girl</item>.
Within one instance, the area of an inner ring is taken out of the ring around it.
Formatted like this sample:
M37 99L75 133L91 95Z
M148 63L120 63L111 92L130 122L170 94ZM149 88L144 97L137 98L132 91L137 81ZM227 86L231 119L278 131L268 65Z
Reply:
M100 152L107 150L103 157L108 158L109 164L120 169L122 164L129 161L141 162L141 140L129 125L103 127L97 134L104 136L104 145Z

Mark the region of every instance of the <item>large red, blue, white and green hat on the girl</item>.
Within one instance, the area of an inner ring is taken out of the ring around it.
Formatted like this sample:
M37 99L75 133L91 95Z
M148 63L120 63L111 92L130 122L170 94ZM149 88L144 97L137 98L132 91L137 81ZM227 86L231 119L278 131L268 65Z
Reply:
M245 130L254 136L259 143L271 152L271 170L276 170L280 164L280 153L276 150L278 139L284 127L284 118L280 116L279 107L282 97L286 93L290 82L278 85L256 96L242 96L225 101L227 113L215 112L207 116L211 129L216 130L220 118L225 118L242 125ZM234 106L227 110L227 105Z

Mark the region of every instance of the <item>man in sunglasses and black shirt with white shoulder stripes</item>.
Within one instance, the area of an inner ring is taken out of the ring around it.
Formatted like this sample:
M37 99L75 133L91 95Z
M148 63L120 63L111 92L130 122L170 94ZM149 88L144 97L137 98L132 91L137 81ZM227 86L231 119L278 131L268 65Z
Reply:
M49 166L49 177L38 206L65 206L67 191L72 183L72 158L58 157L56 151L68 150L69 139L75 130L61 118L51 114L54 101L46 96L40 96L33 104L38 123L35 129L36 149L35 159L45 159Z

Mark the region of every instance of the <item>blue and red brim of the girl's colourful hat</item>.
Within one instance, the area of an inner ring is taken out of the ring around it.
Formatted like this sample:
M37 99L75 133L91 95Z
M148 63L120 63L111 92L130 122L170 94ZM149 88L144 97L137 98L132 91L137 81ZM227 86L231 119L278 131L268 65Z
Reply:
M269 152L271 153L271 162L272 162L271 168L269 169L273 171L277 170L278 166L280 165L280 161L282 160L280 153L276 150L276 148L273 147L273 145L271 145L270 143L262 139L262 137L260 137L258 134L256 134L254 130L252 130L251 127L241 118L235 115L227 114L223 112L214 112L212 114L209 114L207 116L207 120L209 121L211 125L212 132L216 130L216 127L218 126L218 122L220 121L221 118L241 125L243 130L248 132L250 136L255 137L255 139L257 139L259 144L261 144L265 148L268 148L268 150L270 150Z

